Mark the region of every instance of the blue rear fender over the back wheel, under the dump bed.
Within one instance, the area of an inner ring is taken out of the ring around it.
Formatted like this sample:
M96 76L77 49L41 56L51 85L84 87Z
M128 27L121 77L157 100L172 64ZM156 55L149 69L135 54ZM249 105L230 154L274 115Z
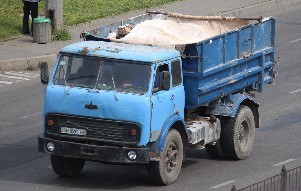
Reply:
M223 102L223 99L228 100ZM250 107L254 115L256 128L259 128L259 103L246 94L232 94L231 99L223 97L219 100L217 107L206 107L205 113L211 115L234 117L240 105Z

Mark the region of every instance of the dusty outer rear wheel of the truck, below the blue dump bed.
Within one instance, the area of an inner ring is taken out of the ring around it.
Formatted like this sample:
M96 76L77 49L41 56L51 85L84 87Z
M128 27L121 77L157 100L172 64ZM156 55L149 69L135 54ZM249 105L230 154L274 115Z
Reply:
M246 159L253 147L255 121L248 106L239 106L235 117L223 122L222 145L226 157L236 160Z

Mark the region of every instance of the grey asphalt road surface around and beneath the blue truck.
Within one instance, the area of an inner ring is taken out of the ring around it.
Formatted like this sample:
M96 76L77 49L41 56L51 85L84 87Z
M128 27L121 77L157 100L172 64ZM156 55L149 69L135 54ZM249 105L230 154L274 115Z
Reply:
M48 155L37 151L42 135L45 85L39 71L20 71L25 79L7 79L0 73L0 190L231 190L247 186L301 165L301 5L266 13L277 18L276 85L256 94L261 103L260 128L246 160L213 159L205 150L188 149L178 180L160 187L148 181L145 166L116 166L87 162L80 175L57 176ZM31 73L31 74L27 74ZM1 84L1 83L0 83ZM287 161L286 163L283 163ZM283 163L283 164L281 164Z

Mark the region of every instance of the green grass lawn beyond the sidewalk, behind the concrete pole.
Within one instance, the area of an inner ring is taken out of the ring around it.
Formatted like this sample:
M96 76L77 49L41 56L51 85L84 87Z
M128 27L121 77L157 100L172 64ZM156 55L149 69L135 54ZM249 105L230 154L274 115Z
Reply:
M63 23L65 26L77 25L175 1L181 0L64 0ZM22 34L23 16L20 15L23 14L23 3L20 0L0 0L0 3L0 39ZM39 12L45 12L45 1L39 2Z

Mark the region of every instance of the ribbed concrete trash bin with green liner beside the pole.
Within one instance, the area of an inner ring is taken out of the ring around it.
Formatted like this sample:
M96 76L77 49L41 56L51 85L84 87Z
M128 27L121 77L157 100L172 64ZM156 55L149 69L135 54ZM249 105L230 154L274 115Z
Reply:
M50 19L34 18L33 19L33 42L34 43L51 43Z

